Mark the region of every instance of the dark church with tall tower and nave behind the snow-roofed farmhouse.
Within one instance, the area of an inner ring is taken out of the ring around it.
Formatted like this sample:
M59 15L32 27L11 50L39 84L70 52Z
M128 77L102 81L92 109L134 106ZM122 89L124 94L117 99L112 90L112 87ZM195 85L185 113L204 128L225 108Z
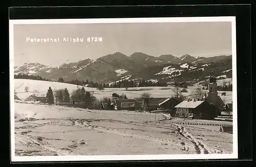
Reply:
M208 95L204 95L202 98L203 101L206 101L212 105L215 105L217 108L222 109L225 107L224 101L221 99L221 97L218 95L217 91L217 82L216 77L211 75L209 77L209 84L208 84Z

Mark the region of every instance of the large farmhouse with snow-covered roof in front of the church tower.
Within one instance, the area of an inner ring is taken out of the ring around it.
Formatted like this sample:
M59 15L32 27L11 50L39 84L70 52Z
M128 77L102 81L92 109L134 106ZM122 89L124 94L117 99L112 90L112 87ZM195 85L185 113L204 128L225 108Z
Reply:
M214 119L218 116L218 108L202 100L184 100L175 106L178 117L193 117L197 119Z

